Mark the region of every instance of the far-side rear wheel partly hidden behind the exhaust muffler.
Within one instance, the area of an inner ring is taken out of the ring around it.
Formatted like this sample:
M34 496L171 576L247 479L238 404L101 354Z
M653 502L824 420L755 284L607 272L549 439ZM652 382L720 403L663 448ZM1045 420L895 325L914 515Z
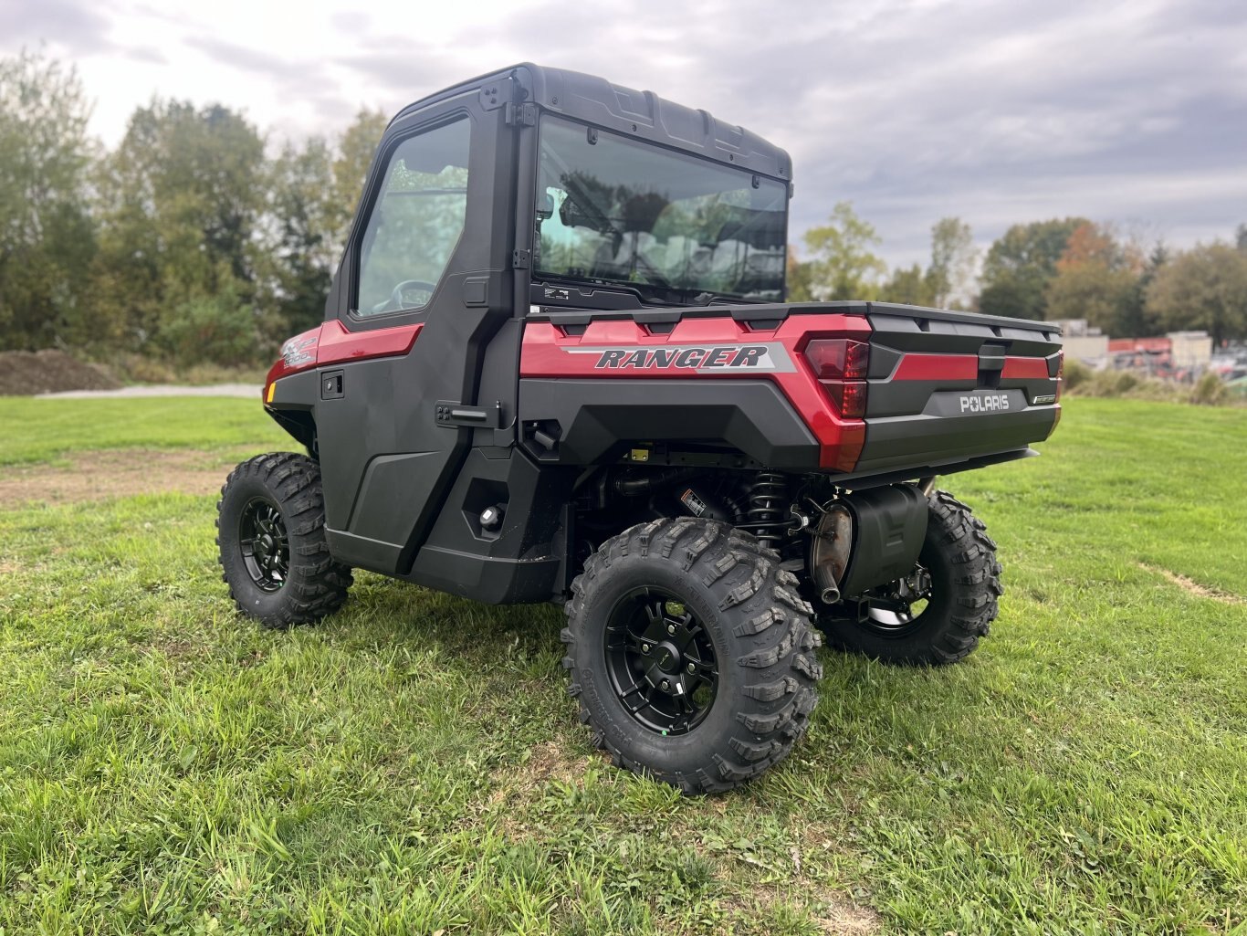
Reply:
M905 588L893 582L870 589L867 604L844 603L849 614L819 615L829 646L885 663L938 666L965 659L988 635L1004 594L996 544L983 520L948 492L936 490L928 507L927 539L915 569L915 575L928 577L925 607L909 622L889 620L889 612L882 610L889 605L884 597ZM862 614L854 614L859 608Z

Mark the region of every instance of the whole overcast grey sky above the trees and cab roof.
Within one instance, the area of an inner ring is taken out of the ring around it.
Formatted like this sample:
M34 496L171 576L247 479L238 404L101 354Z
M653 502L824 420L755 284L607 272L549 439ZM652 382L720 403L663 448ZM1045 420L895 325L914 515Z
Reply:
M850 200L893 265L1085 215L1175 246L1247 221L1247 0L0 0L0 54L79 66L107 145L153 95L333 134L516 61L742 124L794 161L793 232Z

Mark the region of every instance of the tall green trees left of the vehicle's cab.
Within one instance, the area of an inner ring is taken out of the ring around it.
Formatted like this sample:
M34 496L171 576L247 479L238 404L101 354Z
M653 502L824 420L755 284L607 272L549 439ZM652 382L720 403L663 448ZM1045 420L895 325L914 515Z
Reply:
M238 112L153 100L116 149L71 69L0 60L0 349L249 363L320 322L387 124L276 156Z

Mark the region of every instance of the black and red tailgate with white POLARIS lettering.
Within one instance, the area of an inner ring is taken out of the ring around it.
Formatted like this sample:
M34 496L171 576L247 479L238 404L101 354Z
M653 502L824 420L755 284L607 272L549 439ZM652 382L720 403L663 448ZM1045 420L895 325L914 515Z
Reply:
M1025 452L1056 427L1056 324L879 302L867 317L867 431L854 474Z

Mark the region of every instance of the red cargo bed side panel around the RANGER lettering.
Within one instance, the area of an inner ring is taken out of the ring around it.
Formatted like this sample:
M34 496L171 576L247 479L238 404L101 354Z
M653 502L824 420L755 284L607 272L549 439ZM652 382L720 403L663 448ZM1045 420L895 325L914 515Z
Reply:
M870 326L862 316L789 316L777 328L752 328L733 318L685 318L668 333L655 333L631 319L590 322L581 334L570 334L549 322L534 322L524 329L520 377L599 377L624 379L697 378L773 381L819 443L823 468L852 470L865 442L865 422L844 419L819 387L806 343L812 338L850 337L869 341ZM641 351L688 346L754 346L778 342L792 362L787 371L758 372L748 368L712 369L697 366L599 367L600 356L584 353L607 347Z

